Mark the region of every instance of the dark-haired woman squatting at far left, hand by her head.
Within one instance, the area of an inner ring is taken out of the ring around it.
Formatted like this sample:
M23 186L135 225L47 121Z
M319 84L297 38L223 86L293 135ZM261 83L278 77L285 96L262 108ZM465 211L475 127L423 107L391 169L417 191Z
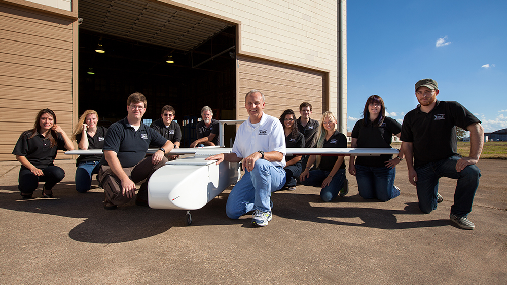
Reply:
M53 161L58 149L74 150L74 146L62 128L56 125L56 115L50 109L40 110L33 129L21 134L12 151L21 162L19 185L23 199L31 199L39 181L46 182L43 198L52 198L52 188L65 177L63 169Z

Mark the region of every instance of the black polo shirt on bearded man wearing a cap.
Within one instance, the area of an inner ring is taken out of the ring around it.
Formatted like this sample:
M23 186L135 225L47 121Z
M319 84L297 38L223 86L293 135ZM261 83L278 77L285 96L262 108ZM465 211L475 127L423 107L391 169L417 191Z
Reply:
M414 166L423 166L459 156L455 126L466 130L474 123L481 121L458 102L437 100L429 113L419 104L405 115L401 140L413 143Z

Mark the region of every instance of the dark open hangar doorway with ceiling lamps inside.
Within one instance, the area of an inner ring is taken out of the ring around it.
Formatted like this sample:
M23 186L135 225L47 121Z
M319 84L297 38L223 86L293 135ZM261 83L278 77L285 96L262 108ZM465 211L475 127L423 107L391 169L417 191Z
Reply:
M78 11L79 114L96 110L107 126L126 116L127 97L138 91L148 124L174 107L184 147L204 105L216 119L236 118L234 25L150 1L81 0Z

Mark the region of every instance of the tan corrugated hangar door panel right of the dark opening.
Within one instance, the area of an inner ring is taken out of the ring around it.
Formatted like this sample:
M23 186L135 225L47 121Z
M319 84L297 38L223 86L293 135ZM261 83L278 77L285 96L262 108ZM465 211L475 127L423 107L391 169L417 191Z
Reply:
M286 109L300 116L299 105L312 105L311 117L320 120L327 111L329 92L325 72L295 67L258 58L238 57L238 119L246 119L245 95L252 89L263 92L266 99L264 112L280 117Z

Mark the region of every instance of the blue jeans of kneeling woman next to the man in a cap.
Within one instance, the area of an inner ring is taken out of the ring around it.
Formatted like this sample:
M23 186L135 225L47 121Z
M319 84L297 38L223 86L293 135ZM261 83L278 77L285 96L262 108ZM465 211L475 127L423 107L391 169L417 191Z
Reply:
M396 168L355 165L355 173L359 195L365 199L377 198L385 202L400 195L394 188Z

